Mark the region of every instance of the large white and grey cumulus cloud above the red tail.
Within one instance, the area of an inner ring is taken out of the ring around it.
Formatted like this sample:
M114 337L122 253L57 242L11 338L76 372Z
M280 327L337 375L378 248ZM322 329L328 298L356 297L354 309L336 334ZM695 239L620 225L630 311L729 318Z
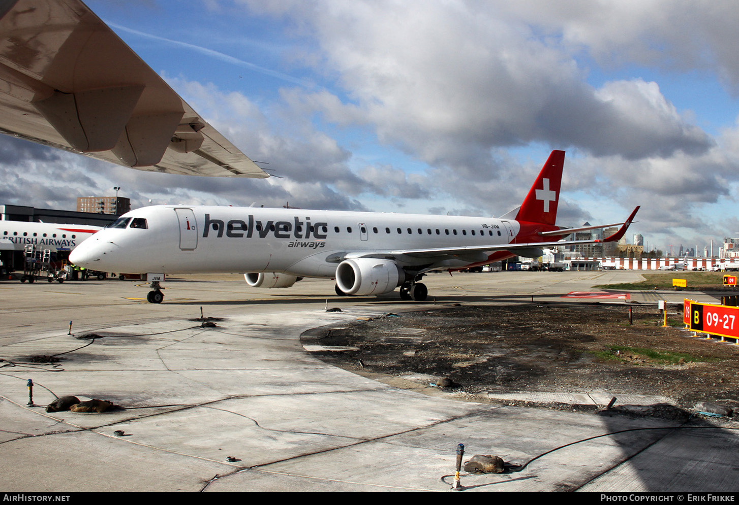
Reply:
M529 142L630 159L712 145L655 83L593 89L573 55L494 2L288 3L250 5L301 24L320 48L318 70L349 97L305 100L431 164L472 153L489 167L490 148Z

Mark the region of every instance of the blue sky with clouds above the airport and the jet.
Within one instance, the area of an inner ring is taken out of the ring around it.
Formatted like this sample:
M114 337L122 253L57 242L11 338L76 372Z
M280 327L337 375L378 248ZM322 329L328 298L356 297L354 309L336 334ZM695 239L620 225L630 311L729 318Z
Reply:
M560 224L642 205L633 231L661 249L739 236L730 1L87 4L282 179L143 174L67 154L50 168L21 154L2 167L4 203L73 208L116 185L134 205L500 216L563 149Z

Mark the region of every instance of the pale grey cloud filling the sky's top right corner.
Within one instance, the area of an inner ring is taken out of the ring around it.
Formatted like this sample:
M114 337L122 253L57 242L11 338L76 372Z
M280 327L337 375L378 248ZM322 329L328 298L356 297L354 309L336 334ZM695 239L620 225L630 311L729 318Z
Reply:
M739 93L739 34L731 0L494 1L517 21L561 38L606 66L638 63L715 72Z

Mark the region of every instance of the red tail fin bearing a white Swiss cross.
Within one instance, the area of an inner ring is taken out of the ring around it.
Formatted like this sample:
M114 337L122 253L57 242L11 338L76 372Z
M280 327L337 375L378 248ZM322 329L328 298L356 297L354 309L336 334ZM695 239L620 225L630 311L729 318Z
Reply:
M537 180L528 191L518 211L516 221L554 224L564 165L565 151L552 151L542 171L539 172Z

